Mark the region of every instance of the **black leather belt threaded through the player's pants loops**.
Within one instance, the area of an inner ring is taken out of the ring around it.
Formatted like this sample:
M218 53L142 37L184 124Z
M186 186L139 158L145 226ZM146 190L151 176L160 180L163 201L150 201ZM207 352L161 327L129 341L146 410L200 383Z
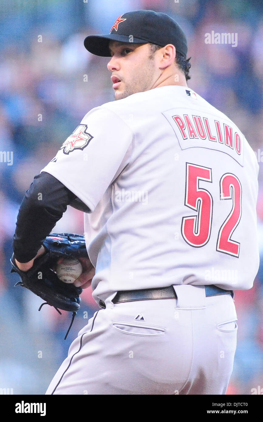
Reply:
M231 295L234 297L233 290L225 290L214 284L206 285L206 297L218 295ZM177 299L176 292L173 286L159 287L154 289L141 289L141 290L121 290L117 292L116 296L112 299L113 303L135 302L136 300L153 300L153 299ZM105 303L100 300L100 308L105 309Z

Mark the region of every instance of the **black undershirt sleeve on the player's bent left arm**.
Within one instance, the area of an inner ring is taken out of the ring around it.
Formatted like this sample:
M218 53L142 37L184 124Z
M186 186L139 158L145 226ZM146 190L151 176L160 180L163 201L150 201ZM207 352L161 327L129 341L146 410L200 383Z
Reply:
M13 238L14 256L19 262L32 260L46 236L52 232L70 203L76 202L67 187L51 174L42 172L34 177L25 192ZM74 207L77 208L77 207Z

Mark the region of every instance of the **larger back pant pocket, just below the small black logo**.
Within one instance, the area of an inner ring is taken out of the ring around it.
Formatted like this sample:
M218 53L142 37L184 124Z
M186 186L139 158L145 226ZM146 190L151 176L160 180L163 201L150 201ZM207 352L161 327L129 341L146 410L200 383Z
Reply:
M112 321L112 327L124 334L156 337L164 335L166 328L156 325L135 324L133 322Z

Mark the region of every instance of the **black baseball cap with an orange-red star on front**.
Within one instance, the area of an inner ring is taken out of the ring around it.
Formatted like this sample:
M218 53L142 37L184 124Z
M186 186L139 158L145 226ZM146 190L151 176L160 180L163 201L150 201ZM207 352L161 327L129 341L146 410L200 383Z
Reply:
M85 48L92 54L111 57L110 41L122 43L152 43L158 46L173 44L178 53L186 57L187 40L180 25L165 13L136 10L120 15L108 35L89 35Z

